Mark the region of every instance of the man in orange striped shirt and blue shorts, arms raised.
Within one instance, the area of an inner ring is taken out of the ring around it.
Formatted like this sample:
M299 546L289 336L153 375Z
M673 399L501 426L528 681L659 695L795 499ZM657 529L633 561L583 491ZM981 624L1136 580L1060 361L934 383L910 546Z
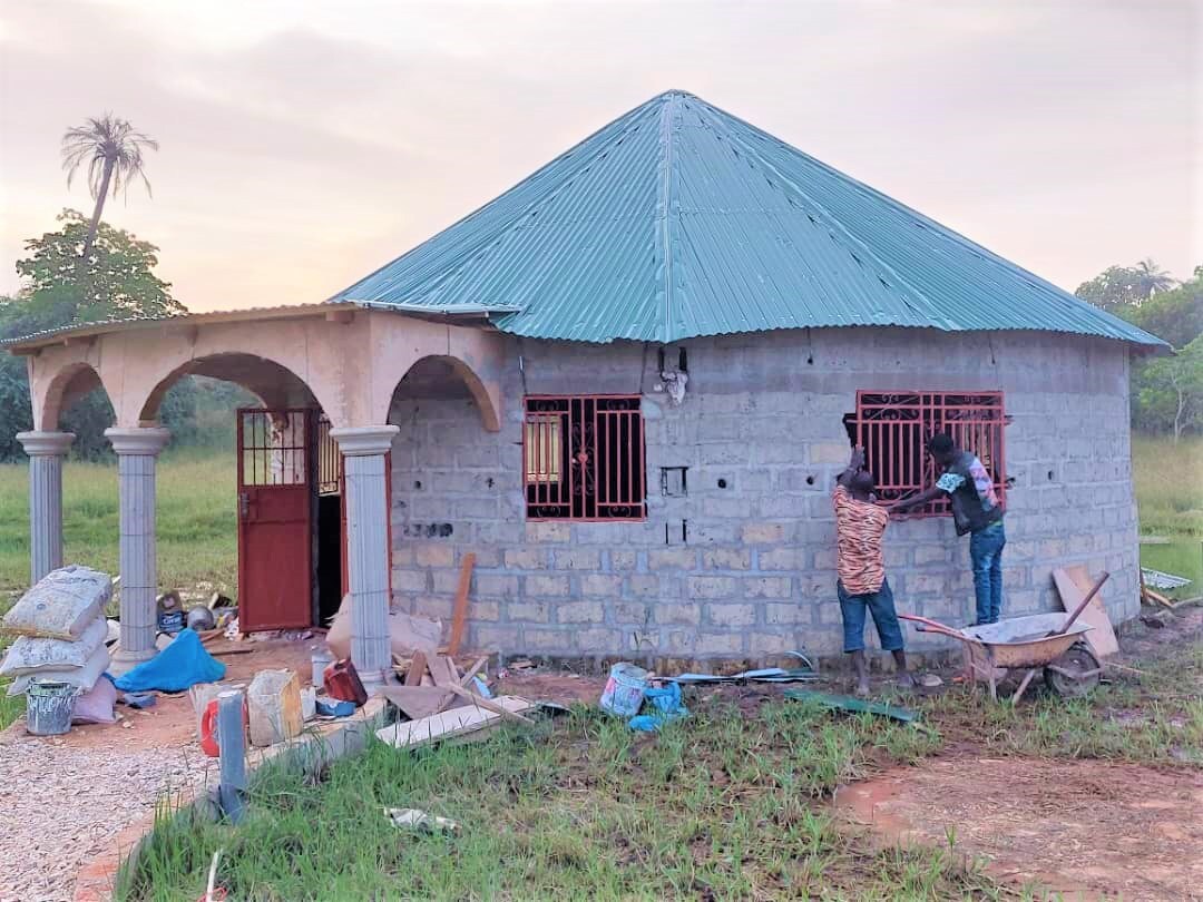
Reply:
M889 514L873 497L873 474L865 469L865 450L853 449L847 469L836 480L832 504L836 530L836 594L843 618L843 651L852 655L857 671L857 695L869 695L869 665L865 660L865 613L872 615L882 649L894 654L899 686L912 688L906 667L902 629L894 610L894 593L885 578L882 535Z

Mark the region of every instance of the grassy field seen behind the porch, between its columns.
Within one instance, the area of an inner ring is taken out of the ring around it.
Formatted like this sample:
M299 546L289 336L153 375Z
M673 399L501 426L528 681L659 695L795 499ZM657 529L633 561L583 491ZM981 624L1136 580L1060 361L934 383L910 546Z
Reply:
M236 486L232 455L176 451L158 464L159 584L212 583L235 597ZM25 464L0 465L0 592L29 583ZM118 572L117 463L69 461L63 470L64 559ZM2 603L0 603L2 604Z

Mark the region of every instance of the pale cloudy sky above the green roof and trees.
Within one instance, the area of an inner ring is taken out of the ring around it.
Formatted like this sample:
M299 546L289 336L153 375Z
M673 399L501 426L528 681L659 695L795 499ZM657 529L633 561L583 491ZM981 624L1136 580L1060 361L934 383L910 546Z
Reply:
M1203 262L1195 0L7 0L0 291L64 129L156 137L106 220L195 310L321 301L668 88L1069 290Z

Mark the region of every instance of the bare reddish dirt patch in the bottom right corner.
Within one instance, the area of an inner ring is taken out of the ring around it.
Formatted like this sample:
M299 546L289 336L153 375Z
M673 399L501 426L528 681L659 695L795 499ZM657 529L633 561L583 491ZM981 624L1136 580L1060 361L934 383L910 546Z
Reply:
M1068 898L1203 900L1203 773L1103 761L953 758L836 795L884 838L985 855Z

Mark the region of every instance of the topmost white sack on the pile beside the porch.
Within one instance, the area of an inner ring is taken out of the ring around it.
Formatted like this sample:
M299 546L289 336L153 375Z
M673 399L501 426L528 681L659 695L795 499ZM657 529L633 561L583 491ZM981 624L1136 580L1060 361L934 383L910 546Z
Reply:
M0 631L76 640L113 595L113 581L87 566L51 570L5 615Z

